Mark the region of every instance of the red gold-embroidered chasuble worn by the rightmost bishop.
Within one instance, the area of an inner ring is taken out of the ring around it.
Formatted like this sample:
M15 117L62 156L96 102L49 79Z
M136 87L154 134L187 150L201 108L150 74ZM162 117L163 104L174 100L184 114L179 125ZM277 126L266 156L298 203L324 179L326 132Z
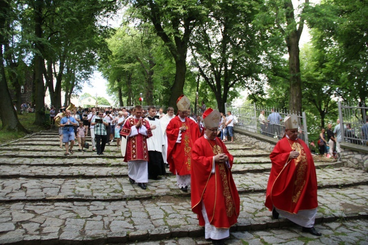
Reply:
M300 154L295 159L289 159L290 151L294 149ZM307 145L300 139L294 141L284 137L276 144L270 159L272 168L265 206L269 210L275 206L292 214L299 210L315 209L318 206L317 177Z

